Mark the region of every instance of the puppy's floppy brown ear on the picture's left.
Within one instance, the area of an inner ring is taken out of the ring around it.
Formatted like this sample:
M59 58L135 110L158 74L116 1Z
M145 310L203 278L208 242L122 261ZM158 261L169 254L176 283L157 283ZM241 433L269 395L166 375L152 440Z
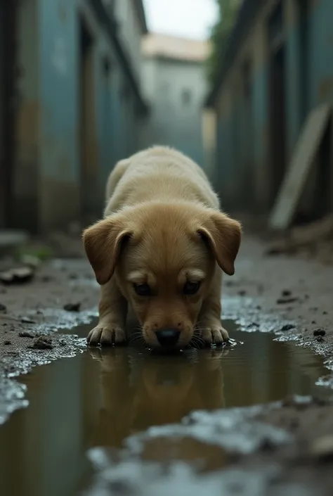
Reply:
M98 284L110 281L122 241L130 236L131 232L124 228L124 222L118 215L100 220L84 231L84 249Z

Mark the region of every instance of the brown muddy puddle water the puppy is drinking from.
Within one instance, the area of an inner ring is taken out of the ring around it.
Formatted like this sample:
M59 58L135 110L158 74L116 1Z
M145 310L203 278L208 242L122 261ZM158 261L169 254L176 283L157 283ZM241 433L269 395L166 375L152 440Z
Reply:
M75 331L86 335L86 326ZM320 357L295 343L274 341L271 334L234 331L233 338L237 345L228 350L188 350L176 356L140 348L88 350L34 369L22 378L30 406L0 428L1 495L80 494L92 477L88 450L91 459L101 457L103 452L91 448L120 448L129 436L178 424L195 410L329 393L315 386L327 373ZM221 468L223 456L214 443L190 437L174 443L167 435L152 436L141 453L141 459L159 463L201 459L204 470ZM180 481L185 484L183 476ZM108 484L107 492L99 488L89 494L128 493ZM214 494L216 487L210 493L204 486L205 494ZM162 489L158 494L164 494Z

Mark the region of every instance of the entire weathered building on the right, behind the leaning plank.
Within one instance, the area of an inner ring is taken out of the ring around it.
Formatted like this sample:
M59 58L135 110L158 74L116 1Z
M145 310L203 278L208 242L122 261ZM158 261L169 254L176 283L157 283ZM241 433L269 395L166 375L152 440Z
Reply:
M214 182L229 208L268 211L308 113L333 101L332 16L331 0L242 1L206 102L216 113ZM332 208L327 136L305 215Z

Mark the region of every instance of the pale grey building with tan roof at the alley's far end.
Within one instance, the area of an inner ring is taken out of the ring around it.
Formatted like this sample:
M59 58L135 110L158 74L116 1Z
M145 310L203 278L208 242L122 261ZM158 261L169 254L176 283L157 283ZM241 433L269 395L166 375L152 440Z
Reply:
M143 88L150 101L143 146L173 146L202 165L208 51L207 42L199 40L155 33L143 39Z

